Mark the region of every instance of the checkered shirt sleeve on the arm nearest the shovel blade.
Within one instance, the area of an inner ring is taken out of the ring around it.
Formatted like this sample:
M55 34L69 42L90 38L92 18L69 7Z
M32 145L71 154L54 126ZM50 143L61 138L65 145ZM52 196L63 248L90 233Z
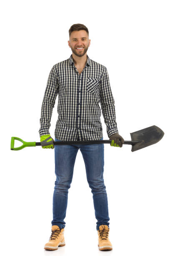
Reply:
M100 104L102 108L102 115L107 126L107 135L110 138L112 134L118 133L118 130L115 115L115 101L112 96L106 67L100 81Z

